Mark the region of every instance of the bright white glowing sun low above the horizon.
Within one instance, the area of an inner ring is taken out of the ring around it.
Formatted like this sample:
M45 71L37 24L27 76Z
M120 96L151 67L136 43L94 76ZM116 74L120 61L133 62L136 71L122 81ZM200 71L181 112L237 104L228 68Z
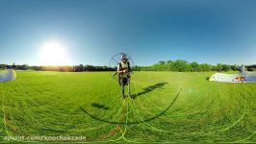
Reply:
M64 45L59 41L44 43L39 51L41 65L68 65L67 53Z

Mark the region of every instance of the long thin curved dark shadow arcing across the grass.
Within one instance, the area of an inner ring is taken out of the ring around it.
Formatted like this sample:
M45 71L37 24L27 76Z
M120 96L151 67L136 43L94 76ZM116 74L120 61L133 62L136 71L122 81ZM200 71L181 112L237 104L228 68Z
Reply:
M86 109L79 107L83 112L85 112L87 115L89 115L92 119L95 119L97 121L100 122L104 122L104 123L109 123L109 124L120 124L120 125L124 125L124 124L140 124L143 122L149 122L151 120L154 120L156 118L158 118L159 116L163 115L164 113L166 113L166 111L171 108L171 106L176 102L177 98L179 97L180 93L182 91L182 88L180 89L180 91L176 94L176 96L174 97L174 99L172 101L170 101L170 104L168 105L168 107L166 109L164 109L162 112L160 112L159 114L156 114L155 116L145 119L143 121L137 121L137 122L116 122L116 121L109 121L109 120L105 120L105 119L101 119L99 117L96 117L92 114L90 114L90 112L88 112Z

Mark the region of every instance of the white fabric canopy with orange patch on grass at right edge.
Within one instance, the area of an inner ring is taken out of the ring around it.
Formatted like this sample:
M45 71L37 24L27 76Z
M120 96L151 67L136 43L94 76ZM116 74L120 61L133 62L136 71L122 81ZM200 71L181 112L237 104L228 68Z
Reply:
M223 83L256 83L256 73L243 72L240 74L222 74L216 73L212 75L209 81Z

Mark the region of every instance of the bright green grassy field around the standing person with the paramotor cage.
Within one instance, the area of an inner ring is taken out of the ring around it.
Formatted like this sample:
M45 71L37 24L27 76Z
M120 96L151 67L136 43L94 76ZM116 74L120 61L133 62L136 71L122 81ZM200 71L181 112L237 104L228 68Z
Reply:
M84 135L87 142L256 142L256 84L213 73L135 72L122 100L108 72L17 72L0 83L0 136Z

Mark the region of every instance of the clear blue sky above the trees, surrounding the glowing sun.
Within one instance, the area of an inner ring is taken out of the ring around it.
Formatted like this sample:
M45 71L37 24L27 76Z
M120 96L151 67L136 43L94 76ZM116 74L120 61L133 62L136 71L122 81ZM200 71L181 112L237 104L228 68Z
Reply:
M255 8L254 0L0 0L0 63L40 64L41 45L57 40L70 64L108 65L119 52L138 65L255 64Z

